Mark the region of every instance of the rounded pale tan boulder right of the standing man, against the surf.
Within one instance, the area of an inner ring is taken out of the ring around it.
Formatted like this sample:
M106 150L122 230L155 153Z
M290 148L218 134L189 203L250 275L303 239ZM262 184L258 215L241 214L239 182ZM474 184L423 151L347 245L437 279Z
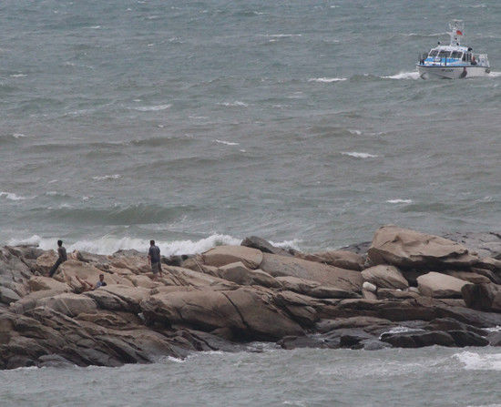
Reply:
M249 269L257 269L262 261L262 252L245 246L216 246L202 253L203 263L221 267L241 261Z

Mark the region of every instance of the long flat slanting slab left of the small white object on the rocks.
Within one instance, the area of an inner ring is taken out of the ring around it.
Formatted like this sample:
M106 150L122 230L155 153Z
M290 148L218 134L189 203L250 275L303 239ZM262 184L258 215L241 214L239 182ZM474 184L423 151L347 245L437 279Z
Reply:
M292 276L314 280L337 289L350 292L362 290L363 277L359 271L344 270L326 264L303 259L264 253L261 270L273 277Z

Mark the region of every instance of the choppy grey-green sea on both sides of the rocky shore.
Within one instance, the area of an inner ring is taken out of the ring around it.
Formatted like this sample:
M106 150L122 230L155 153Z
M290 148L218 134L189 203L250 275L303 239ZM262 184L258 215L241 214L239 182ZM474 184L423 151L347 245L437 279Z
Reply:
M455 18L491 73L419 78ZM170 255L251 235L336 249L388 223L499 231L500 21L497 0L3 0L0 243ZM493 405L499 355L18 370L0 404Z

